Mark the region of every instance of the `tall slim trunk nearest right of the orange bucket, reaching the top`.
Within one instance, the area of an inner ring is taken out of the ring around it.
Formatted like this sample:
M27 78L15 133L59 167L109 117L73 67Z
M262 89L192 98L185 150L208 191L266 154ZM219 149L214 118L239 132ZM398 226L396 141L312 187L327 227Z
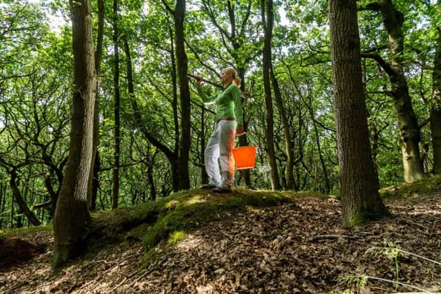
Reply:
M278 178L276 152L274 151L274 117L273 104L271 99L271 85L269 81L269 70L271 68L271 39L274 24L273 2L272 0L262 0L262 22L265 31L265 45L263 48L263 85L265 87L265 106L267 114L266 142L269 159L269 167L271 168L271 188L280 190L280 180ZM265 21L265 5L267 6Z

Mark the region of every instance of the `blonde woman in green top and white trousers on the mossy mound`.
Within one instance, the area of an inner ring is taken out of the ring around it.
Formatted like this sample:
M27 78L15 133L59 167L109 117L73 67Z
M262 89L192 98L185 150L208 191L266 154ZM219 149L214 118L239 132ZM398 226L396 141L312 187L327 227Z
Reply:
M243 109L240 90L233 83L236 71L224 68L220 76L223 90L214 96L207 96L201 87L202 78L196 80L196 89L204 103L216 103L216 128L208 139L205 148L205 170L209 176L203 189L213 189L214 193L229 193L234 181L234 134L243 135ZM238 80L240 83L240 80ZM218 160L220 161L219 171Z

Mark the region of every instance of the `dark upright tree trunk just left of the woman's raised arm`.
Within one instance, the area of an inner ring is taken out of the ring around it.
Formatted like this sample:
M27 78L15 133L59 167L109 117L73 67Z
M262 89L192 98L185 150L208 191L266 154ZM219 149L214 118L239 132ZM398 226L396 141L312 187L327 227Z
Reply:
M190 188L188 171L190 140L190 90L187 78L187 54L184 45L185 0L176 0L174 25L176 31L176 60L178 63L179 85L181 90L181 140L179 142L178 171L179 189Z

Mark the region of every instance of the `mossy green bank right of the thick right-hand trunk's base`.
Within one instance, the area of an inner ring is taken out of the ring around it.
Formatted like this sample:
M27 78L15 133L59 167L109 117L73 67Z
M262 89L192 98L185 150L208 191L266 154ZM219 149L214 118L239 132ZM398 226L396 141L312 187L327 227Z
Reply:
M402 183L380 189L380 195L384 199L405 199L427 195L441 188L441 176L432 176L416 180L415 182Z

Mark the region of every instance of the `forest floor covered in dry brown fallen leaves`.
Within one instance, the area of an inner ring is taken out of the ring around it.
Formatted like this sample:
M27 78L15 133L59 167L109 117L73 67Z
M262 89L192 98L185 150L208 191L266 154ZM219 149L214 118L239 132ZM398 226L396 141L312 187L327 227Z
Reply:
M9 242L32 242L35 258L0 268L0 293L418 291L376 280L397 278L441 292L441 191L385 204L393 217L353 229L342 227L340 202L332 197L301 196L295 204L226 211L171 250L156 247L156 259L148 265L142 242L127 240L74 260L58 273L51 270L52 233L20 235ZM40 245L47 250L39 253ZM356 285L360 277L367 277L365 286Z

